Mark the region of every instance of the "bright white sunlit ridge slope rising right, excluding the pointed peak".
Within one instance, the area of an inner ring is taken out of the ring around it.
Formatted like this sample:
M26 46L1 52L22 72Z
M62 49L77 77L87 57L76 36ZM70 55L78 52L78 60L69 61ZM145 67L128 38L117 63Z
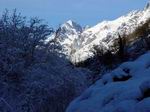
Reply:
M143 25L150 18L150 7L143 11L132 11L126 16L122 16L114 21L103 21L96 26L85 30L82 33L81 48L72 57L76 61L84 61L92 56L90 49L93 45L103 45L108 48L113 40L118 38L118 33L130 34L137 27ZM80 60L78 60L80 59Z

